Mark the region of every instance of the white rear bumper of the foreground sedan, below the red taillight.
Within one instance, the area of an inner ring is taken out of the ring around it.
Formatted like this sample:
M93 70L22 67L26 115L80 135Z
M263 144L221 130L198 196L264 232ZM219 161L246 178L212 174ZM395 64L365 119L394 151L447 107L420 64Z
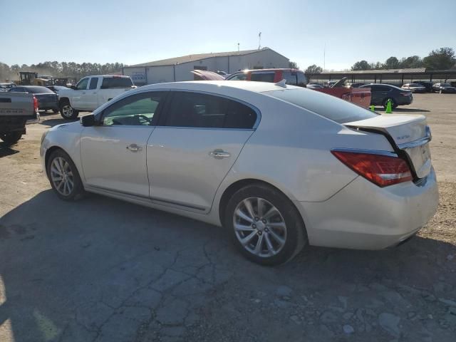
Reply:
M418 186L404 182L380 188L357 177L325 202L295 202L314 246L383 249L412 236L437 211L432 169Z

